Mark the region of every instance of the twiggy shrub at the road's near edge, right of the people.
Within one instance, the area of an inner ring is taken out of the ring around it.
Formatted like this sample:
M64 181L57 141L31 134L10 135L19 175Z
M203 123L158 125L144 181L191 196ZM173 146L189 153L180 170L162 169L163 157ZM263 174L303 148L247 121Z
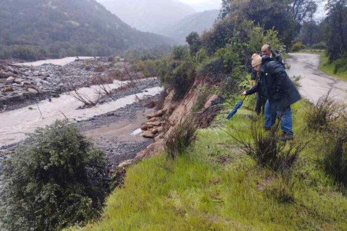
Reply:
M316 105L311 105L304 114L304 121L310 129L326 130L339 117L343 106L334 102L330 91L322 96Z

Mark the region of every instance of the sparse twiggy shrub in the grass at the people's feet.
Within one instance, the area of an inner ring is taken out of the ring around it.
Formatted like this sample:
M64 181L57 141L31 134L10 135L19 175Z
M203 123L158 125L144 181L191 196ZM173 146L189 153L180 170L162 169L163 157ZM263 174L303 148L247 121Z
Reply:
M309 142L296 138L286 145L280 141L279 122L269 131L263 128L259 121L253 121L250 128L250 138L244 136L245 132L234 135L229 132L241 147L241 150L252 157L259 165L274 171L285 171L293 166L300 153Z

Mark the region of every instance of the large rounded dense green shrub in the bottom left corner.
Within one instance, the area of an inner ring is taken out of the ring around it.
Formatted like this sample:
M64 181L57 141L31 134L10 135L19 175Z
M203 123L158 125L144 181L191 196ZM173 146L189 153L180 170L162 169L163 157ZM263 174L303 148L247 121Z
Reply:
M4 162L1 230L55 231L99 214L109 187L103 152L66 120L37 128Z

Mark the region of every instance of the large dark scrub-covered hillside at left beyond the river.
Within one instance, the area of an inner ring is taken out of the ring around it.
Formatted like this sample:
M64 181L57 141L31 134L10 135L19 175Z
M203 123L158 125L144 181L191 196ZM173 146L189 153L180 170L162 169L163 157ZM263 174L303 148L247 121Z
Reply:
M95 0L1 0L0 58L108 55L170 44L127 25Z

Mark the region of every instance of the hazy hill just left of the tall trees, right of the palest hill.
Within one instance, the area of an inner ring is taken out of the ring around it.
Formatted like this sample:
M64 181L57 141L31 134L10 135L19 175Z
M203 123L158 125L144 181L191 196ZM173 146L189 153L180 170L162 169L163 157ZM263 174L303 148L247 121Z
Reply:
M180 44L185 43L185 37L192 31L201 34L205 29L212 27L215 19L218 17L219 10L205 10L203 12L188 15L173 26L163 31L163 34L173 38Z

